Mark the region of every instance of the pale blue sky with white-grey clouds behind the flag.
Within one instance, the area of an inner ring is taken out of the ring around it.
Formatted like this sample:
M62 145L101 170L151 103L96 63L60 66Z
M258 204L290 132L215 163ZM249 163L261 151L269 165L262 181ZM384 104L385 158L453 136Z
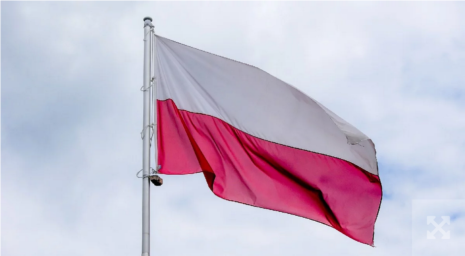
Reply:
M151 255L465 250L463 2L1 1L0 9L2 256L140 254L145 16L158 35L257 66L360 129L376 146L383 185L373 248L216 197L202 174L163 176L151 188ZM428 214L438 224L451 216L450 240L426 240Z

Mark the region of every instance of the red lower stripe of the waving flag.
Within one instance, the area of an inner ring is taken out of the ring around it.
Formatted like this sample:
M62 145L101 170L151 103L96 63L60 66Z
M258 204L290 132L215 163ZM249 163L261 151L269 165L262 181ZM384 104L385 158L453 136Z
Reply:
M178 110L171 99L157 100L157 112L160 173L203 172L221 198L309 218L373 245L382 194L378 176Z

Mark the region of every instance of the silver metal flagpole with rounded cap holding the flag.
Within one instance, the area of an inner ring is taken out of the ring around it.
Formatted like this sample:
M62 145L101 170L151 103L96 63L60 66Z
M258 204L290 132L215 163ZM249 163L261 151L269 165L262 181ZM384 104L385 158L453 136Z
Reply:
M144 18L144 117L142 138L142 256L150 255L150 81L152 18ZM156 135L155 135L156 136ZM155 145L156 147L156 145Z

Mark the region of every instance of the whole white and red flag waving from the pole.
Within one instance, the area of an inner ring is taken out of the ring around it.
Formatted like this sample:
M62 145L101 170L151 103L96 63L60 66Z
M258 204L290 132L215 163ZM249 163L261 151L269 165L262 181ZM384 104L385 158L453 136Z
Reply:
M217 196L331 226L373 245L373 142L263 70L156 38L159 173L203 172Z

